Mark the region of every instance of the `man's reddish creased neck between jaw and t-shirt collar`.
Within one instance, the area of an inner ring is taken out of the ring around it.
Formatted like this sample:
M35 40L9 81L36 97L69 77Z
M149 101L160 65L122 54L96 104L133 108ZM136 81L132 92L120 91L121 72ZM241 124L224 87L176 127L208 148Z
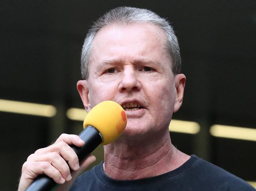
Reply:
M173 146L167 131L161 139L150 139L150 143L148 140L121 139L105 146L103 168L111 178L135 180L172 171L189 158Z

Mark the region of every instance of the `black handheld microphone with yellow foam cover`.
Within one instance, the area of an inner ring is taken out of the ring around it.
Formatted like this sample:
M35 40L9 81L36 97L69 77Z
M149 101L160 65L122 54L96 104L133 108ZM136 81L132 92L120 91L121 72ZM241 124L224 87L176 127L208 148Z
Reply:
M79 137L85 142L84 146L70 145L70 147L81 162L100 144L107 145L119 138L126 124L126 113L119 104L113 101L101 102L91 109L83 121L84 129ZM52 178L39 175L25 191L49 191L57 186Z

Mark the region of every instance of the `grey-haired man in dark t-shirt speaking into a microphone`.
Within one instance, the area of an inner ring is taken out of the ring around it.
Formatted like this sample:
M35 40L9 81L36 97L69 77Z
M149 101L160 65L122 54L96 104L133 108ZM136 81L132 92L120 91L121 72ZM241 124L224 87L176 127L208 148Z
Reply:
M19 191L39 174L61 184L58 190L68 190L71 184L72 191L254 190L171 143L168 126L182 104L186 77L180 73L177 38L165 19L146 9L109 11L86 36L81 64L83 80L77 89L86 111L113 100L125 109L127 127L117 141L104 146L104 163L78 178L95 157L79 166L68 145L84 142L76 135L61 135L28 157ZM74 170L71 175L67 163Z

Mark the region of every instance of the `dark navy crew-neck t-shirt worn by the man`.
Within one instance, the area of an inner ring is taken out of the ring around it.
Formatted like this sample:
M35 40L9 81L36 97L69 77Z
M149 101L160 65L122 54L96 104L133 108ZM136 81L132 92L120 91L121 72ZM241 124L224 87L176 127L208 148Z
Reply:
M163 175L138 180L114 180L102 163L83 173L70 191L255 191L247 182L195 155Z

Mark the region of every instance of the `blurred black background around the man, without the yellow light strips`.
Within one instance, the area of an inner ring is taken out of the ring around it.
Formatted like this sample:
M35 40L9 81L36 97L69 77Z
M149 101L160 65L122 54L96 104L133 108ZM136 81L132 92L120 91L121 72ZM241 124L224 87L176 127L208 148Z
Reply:
M0 99L52 104L58 112L53 118L0 112L1 190L16 189L22 164L36 149L61 133L82 130L82 122L69 120L66 111L83 107L76 91L83 38L93 20L123 5L168 18L178 36L187 82L174 118L198 122L201 131L171 133L173 144L256 181L256 142L209 133L213 124L256 128L255 0L4 0Z

